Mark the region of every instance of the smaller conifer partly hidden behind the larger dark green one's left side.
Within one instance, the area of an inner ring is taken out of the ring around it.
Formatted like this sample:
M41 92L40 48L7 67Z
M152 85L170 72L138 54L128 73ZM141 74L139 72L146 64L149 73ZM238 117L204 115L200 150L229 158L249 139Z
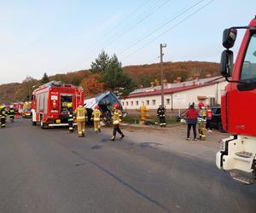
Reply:
M102 72L105 71L108 67L109 56L108 54L102 50L102 52L98 55L95 62L91 62L90 71L91 72Z

